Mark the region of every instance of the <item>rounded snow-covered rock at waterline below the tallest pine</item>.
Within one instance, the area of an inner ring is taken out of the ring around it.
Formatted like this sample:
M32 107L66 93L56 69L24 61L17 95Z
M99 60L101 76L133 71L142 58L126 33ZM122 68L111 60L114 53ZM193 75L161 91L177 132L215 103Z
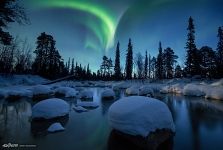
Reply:
M204 96L205 93L201 86L196 84L187 84L184 86L183 94L186 96Z

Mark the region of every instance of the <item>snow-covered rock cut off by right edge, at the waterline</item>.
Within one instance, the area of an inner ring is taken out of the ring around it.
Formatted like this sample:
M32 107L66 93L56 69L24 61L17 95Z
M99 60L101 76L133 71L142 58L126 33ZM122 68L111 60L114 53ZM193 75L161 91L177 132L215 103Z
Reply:
M205 90L205 98L223 100L223 88L222 87L209 87Z

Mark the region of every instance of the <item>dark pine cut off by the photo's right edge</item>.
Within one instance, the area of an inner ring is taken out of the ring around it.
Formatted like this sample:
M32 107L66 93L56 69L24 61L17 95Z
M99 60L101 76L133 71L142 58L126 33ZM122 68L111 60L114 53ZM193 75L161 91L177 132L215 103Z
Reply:
M223 77L223 29L218 28L218 44L217 44L217 76Z

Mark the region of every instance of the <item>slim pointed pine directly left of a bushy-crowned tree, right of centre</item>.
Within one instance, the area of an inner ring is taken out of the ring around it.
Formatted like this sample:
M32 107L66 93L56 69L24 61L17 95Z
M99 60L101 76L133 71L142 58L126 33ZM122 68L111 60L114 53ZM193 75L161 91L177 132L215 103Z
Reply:
M161 42L159 42L159 53L156 61L156 77L163 79L163 50Z

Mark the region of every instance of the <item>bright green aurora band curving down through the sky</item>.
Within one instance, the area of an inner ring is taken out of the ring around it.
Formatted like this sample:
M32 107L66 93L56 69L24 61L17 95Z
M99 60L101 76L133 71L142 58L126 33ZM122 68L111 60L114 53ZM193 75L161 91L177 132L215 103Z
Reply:
M99 4L83 0L39 0L35 1L35 6L40 8L74 9L95 16L97 20L88 18L85 21L85 26L94 34L94 37L86 38L85 47L96 51L104 49L105 52L113 47L120 17L112 13L108 8L105 9Z

